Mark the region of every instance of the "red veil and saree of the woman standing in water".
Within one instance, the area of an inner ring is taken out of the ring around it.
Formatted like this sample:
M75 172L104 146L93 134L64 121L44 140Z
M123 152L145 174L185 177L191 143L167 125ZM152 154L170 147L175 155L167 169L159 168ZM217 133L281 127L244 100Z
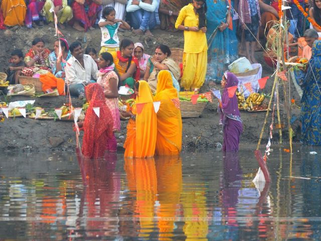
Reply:
M106 143L113 135L112 114L106 105L104 90L99 84L89 84L85 91L90 104L84 122L82 153L90 158L103 157ZM99 117L93 110L94 107L100 107Z

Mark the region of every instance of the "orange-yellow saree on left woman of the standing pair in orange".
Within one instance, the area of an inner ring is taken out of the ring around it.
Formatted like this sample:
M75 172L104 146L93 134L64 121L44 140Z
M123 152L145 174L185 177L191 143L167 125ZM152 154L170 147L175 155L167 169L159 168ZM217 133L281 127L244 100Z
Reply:
M138 104L143 104L141 105L143 106L141 111L138 111ZM151 90L144 80L139 80L136 109L136 157L153 157L156 145L157 121Z

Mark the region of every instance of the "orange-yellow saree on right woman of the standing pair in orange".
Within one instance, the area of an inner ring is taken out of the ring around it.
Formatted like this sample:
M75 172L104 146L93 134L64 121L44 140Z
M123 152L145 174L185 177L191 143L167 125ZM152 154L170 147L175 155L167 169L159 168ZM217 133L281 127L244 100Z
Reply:
M168 70L160 71L157 79L154 101L161 101L161 105L157 112L156 154L176 156L182 150L181 110L173 102L178 98L178 92Z

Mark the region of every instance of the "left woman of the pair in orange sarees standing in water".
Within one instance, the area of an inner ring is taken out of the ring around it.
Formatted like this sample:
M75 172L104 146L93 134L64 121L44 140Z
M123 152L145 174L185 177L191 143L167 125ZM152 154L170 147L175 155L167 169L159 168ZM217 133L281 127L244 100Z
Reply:
M146 81L140 80L135 83L137 94L135 108L135 125L128 123L127 131L131 135L127 136L124 143L125 157L148 158L153 157L156 145L156 113L153 106L153 96ZM137 91L138 90L138 91ZM135 132L132 132L135 128ZM135 142L133 144L132 142Z

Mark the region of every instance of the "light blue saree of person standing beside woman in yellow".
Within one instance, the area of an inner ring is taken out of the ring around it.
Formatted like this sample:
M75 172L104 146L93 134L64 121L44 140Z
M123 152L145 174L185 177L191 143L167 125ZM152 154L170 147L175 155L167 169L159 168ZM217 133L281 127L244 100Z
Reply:
M233 31L226 28L223 32L216 30L216 33L209 40L215 29L221 25L221 22L226 23L227 3L225 0L218 0L214 3L213 0L207 0L207 32L206 38L208 41L208 63L206 81L214 81L220 83L224 71L227 69L226 64L232 63L238 58L236 38L236 23L233 21ZM233 6L233 1L231 2ZM231 18L233 18L231 11Z

